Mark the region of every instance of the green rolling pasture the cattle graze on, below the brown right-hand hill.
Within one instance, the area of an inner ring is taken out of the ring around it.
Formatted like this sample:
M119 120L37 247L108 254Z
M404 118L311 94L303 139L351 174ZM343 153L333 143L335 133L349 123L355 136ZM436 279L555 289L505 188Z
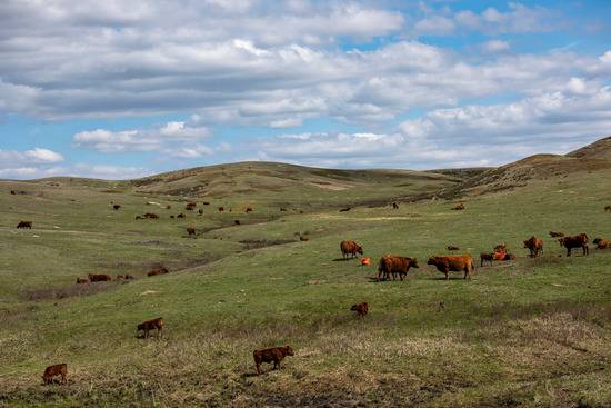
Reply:
M232 187L201 172L1 182L0 406L611 405L611 250L567 258L544 238L544 256L529 259L521 248L549 230L611 237L602 210L610 170L464 197L465 211L445 200L382 206L455 185L440 175L338 181L293 169L286 181L268 165L257 170L221 169ZM169 218L190 199L201 217ZM218 213L221 205L233 211ZM162 217L134 220L147 211ZM34 228L17 231L20 219ZM186 235L190 225L197 239ZM338 259L342 239L362 243L373 263L392 252L417 257L420 268L403 282L375 282L374 267ZM479 255L498 242L518 260L478 268L470 281L444 281L425 266L448 245ZM156 262L172 272L144 277ZM79 295L76 277L94 271L138 279ZM359 301L370 303L362 320L348 310ZM163 338L136 338L136 325L158 316ZM253 376L252 350L286 344L296 356ZM62 361L68 384L42 386L44 367Z

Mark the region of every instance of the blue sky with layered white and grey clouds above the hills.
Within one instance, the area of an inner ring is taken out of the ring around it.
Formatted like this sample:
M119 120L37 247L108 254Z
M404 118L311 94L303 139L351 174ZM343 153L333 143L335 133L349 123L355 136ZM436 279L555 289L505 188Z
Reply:
M609 0L0 1L3 179L498 166L609 135Z

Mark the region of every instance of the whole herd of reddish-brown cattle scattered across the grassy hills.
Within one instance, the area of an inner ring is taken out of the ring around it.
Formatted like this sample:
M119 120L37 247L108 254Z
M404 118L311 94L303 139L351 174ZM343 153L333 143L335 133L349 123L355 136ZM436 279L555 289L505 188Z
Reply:
M16 191L11 191L11 195L16 195ZM21 193L21 192L20 192ZM151 202L148 202L151 203ZM210 205L209 202L203 202L203 205ZM121 209L121 206L114 202L111 202L112 209L118 211ZM193 211L197 208L197 202L190 201L186 205L184 209L187 211ZM399 206L397 202L392 202L392 208L398 209ZM166 206L166 209L171 209L171 206ZM341 212L350 211L350 207L340 209ZM462 202L458 203L457 206L452 207L452 210L461 211L464 210L465 207ZM218 207L219 212L224 212L224 207ZM611 211L611 206L604 207L605 211ZM231 211L231 210L230 210ZM252 212L252 207L246 208L244 212L249 213ZM280 208L280 211L287 211L286 208ZM199 215L203 213L203 210L198 211ZM174 216L170 216L171 218L174 218ZM184 213L179 213L176 216L176 218L183 219L186 218ZM159 216L154 212L146 212L142 216L136 216L136 219L159 219ZM240 225L239 220L234 221L236 225ZM31 229L32 228L32 221L20 221L17 226L18 229ZM196 228L194 227L188 227L187 232L189 236L196 235ZM550 231L549 232L551 238L555 238L560 245L560 247L563 247L567 249L567 256L571 256L572 249L582 249L583 256L587 256L590 253L588 243L590 241L587 233L580 233L577 236L565 236L562 232L558 231ZM300 236L301 241L308 241L307 237ZM592 241L598 249L607 249L611 248L611 243L602 237L595 238ZM538 238L535 236L532 236L523 241L523 248L529 250L529 256L531 258L538 258L543 253L543 240L541 238ZM457 246L448 246L448 251L458 251L460 250ZM357 243L352 240L344 240L340 243L340 250L342 253L342 258L344 260L352 259L354 257L361 256L361 265L367 267L370 265L370 258L363 257L363 247ZM482 252L480 253L480 267L483 267L484 262L489 262L492 265L493 261L513 261L515 260L515 256L513 253L510 253L508 251L508 248L504 243L497 245L492 252ZM430 265L434 267L438 271L444 275L445 280L449 280L449 273L454 272L462 272L464 279L471 278L473 275L475 267L473 263L473 258L471 255L433 255L430 256L427 265ZM377 281L382 280L404 280L408 277L408 272L411 268L420 268L418 265L418 260L415 258L410 257L401 257L395 255L383 255L379 262L378 262L378 276L375 278ZM148 273L148 277L153 277L158 275L166 275L169 273L169 270L163 266L156 266L153 267ZM131 275L118 275L114 280L131 280L134 279ZM87 278L77 278L77 283L89 283L89 282L108 282L112 281L112 277L110 275L106 273L89 273ZM439 305L439 310L441 311L444 308L443 301ZM364 318L369 312L369 303L368 302L360 302L357 305L353 305L350 308L351 311L355 311L357 316L360 318ZM164 321L161 317L143 321L137 326L137 336L139 332L142 332L141 338L148 338L149 334L151 331L156 331L156 337L160 337L162 335ZM280 362L287 357L287 356L293 356L294 351L290 346L284 347L272 347L268 349L260 349L253 351L253 359L254 365L257 368L257 374L261 374L261 364L273 364L273 369L280 368ZM42 379L44 384L52 384L54 378L58 378L61 380L61 382L66 382L66 377L68 374L68 366L67 364L58 364L53 366L47 367L42 375Z

